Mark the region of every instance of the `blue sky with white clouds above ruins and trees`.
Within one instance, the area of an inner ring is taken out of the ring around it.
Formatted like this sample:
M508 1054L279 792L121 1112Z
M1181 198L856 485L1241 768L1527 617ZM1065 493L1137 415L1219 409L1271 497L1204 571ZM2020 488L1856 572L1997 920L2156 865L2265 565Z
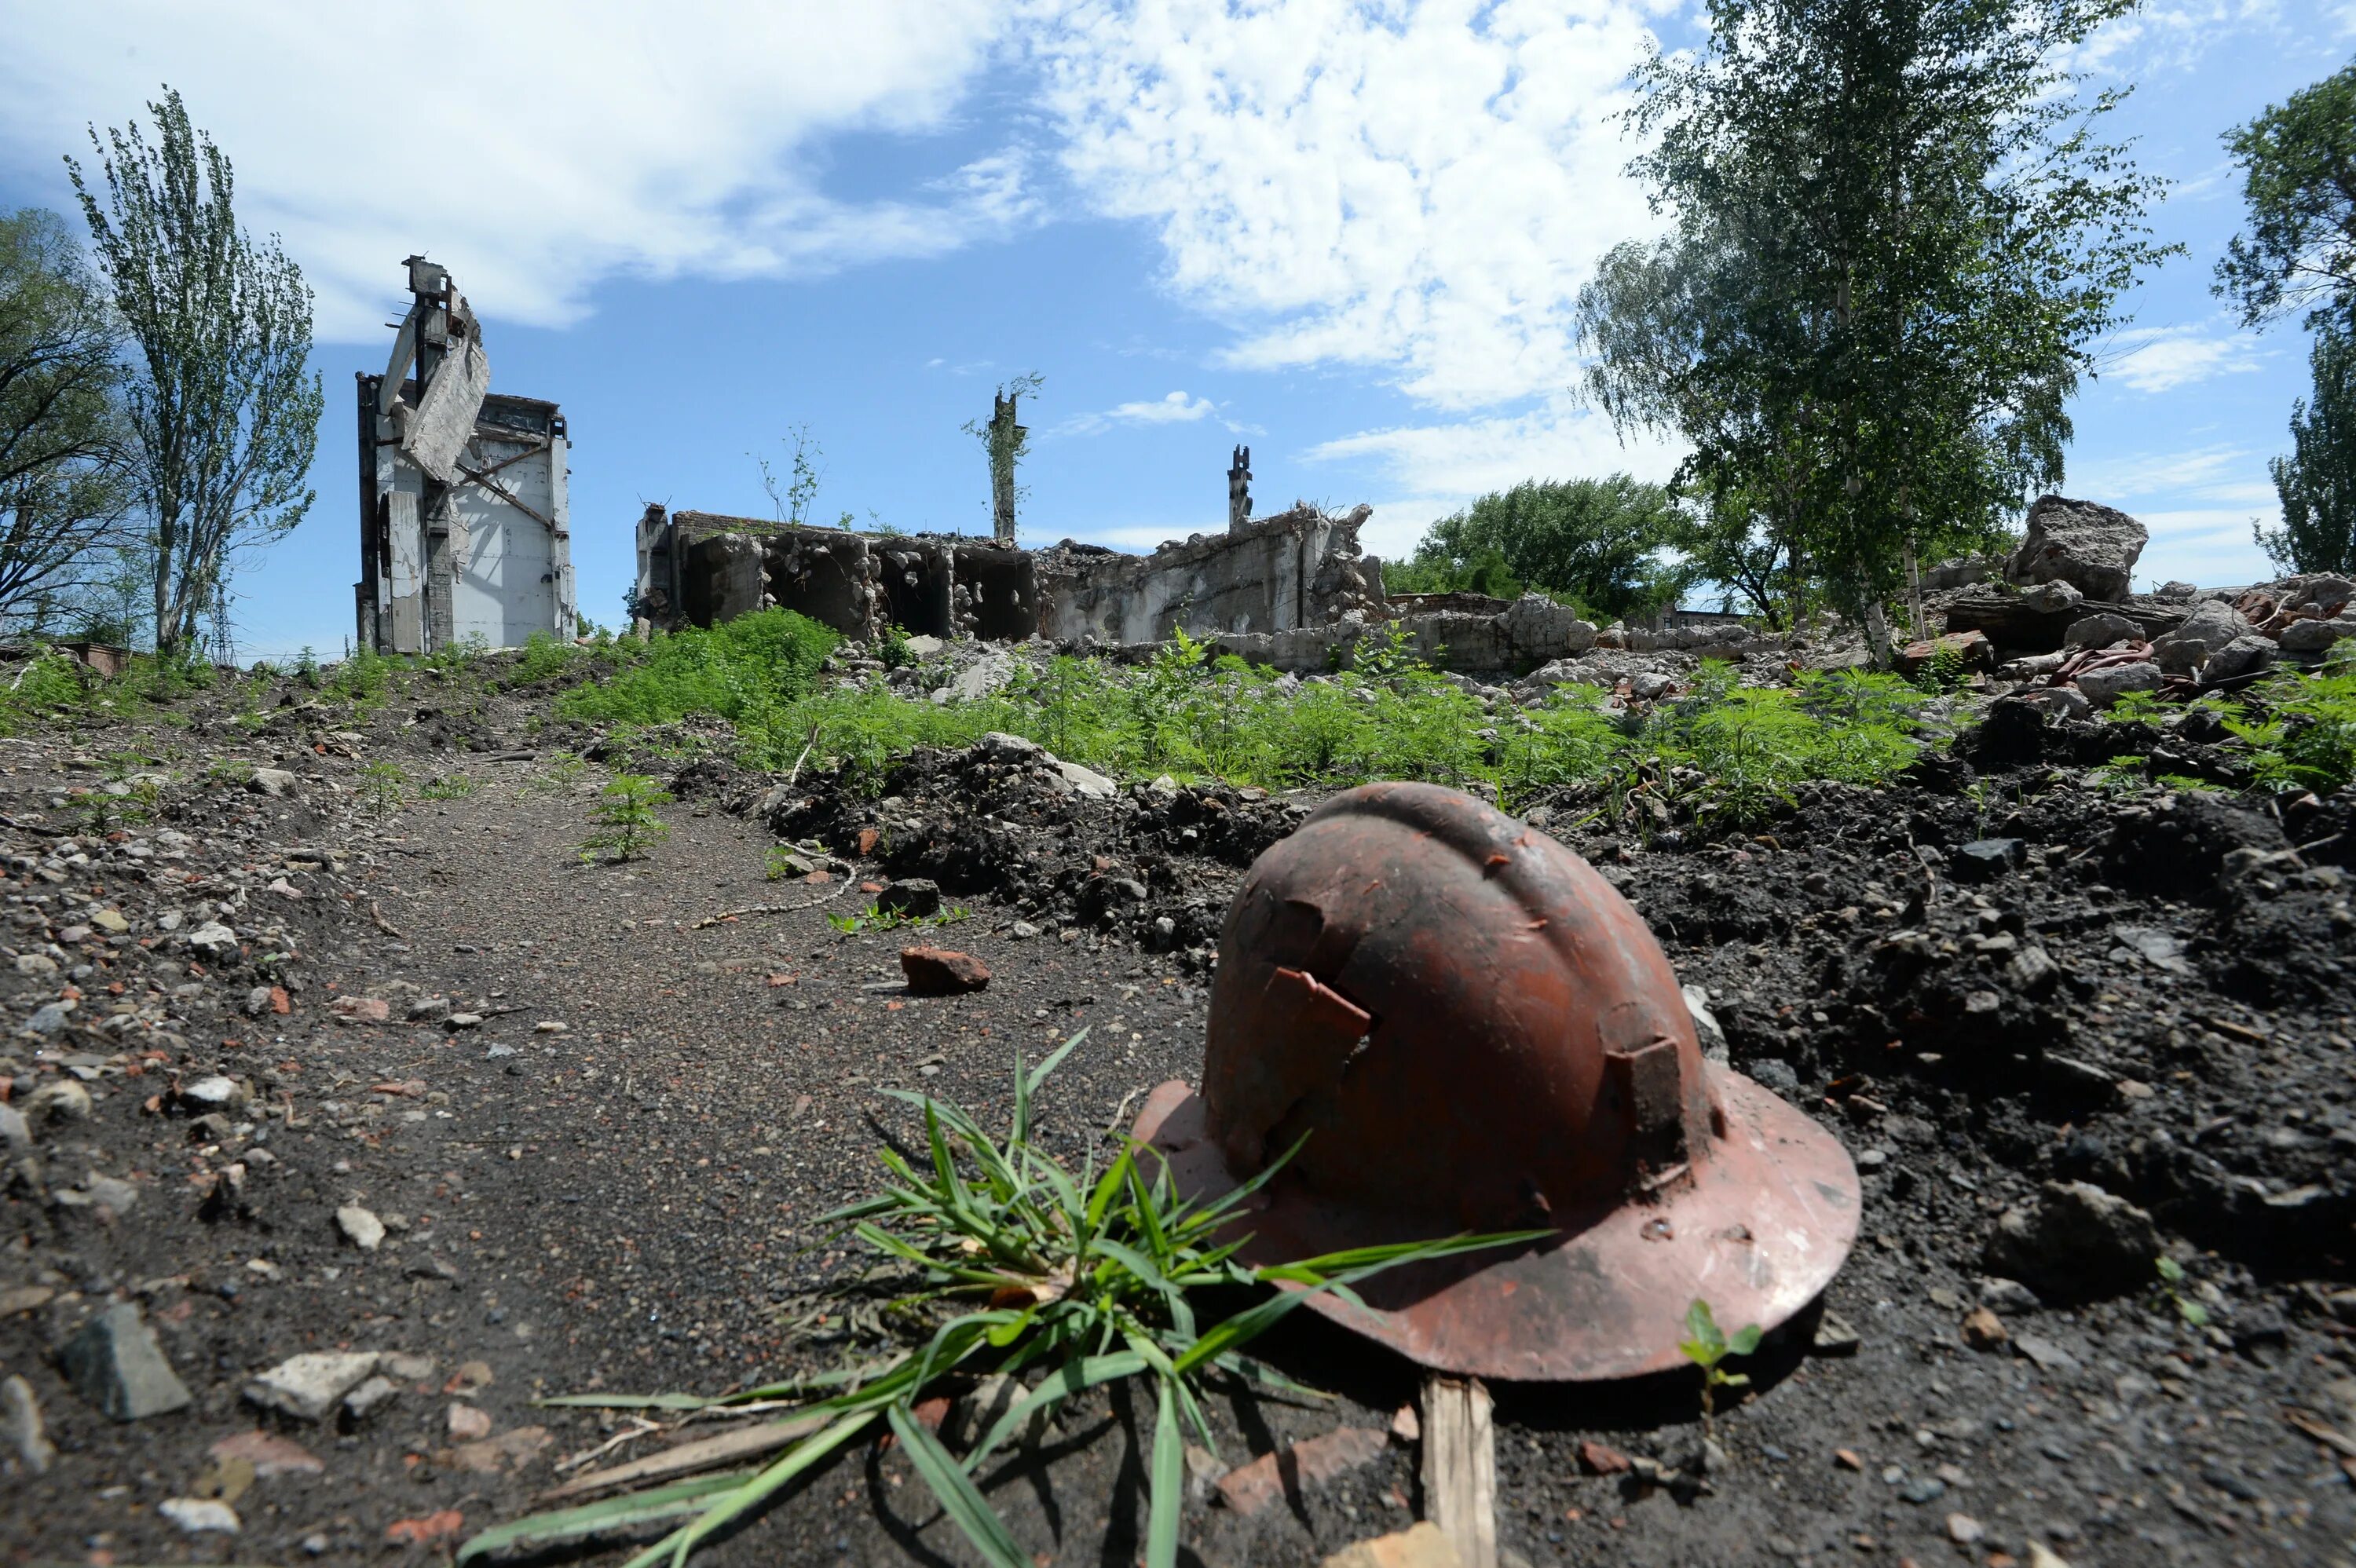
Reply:
M1242 440L1263 511L1371 501L1369 546L1404 553L1489 487L1675 466L1569 393L1569 306L1652 224L1626 71L1694 26L1621 0L16 7L0 202L68 207L59 153L172 82L318 290L318 501L238 577L247 657L351 631L351 377L412 250L485 320L492 388L565 407L608 624L643 501L766 513L754 457L782 466L792 426L825 447L818 516L987 530L959 426L1027 370L1025 542L1216 530ZM2106 344L2064 485L2153 530L2151 582L2271 574L2250 518L2307 344L2208 292L2241 217L2217 137L2351 52L2349 0L2189 0L2078 61L2135 85L2113 127L2179 181L2153 224L2189 254Z

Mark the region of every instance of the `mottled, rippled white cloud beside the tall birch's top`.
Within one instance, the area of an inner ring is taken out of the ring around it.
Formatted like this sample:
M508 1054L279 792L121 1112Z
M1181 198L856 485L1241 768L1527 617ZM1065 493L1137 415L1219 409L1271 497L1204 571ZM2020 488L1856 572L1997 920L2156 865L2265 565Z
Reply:
M1612 115L1635 0L1081 0L1044 45L1063 165L1159 228L1239 367L1470 410L1576 374L1595 259L1652 226Z

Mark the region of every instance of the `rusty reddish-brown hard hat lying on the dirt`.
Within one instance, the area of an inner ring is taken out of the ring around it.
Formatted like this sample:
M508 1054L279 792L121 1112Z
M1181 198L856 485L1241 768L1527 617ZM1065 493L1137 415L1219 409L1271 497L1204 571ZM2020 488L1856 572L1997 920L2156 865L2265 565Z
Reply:
M1447 1373L1529 1382L1682 1363L1685 1309L1774 1328L1857 1238L1857 1168L1708 1067L1659 942L1560 843L1432 784L1336 796L1270 848L1220 937L1202 1092L1138 1118L1220 1194L1298 1144L1237 1222L1291 1262L1555 1227L1392 1269L1317 1311Z

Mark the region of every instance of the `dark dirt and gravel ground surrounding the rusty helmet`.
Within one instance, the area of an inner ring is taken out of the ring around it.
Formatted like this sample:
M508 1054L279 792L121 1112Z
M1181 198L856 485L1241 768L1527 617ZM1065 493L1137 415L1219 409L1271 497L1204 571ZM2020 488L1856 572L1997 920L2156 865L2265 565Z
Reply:
M874 1349L860 1297L829 1290L860 1262L810 1243L909 1132L881 1090L990 1123L1015 1055L1086 1026L1044 1137L1077 1158L1126 1128L1147 1088L1199 1074L1225 899L1310 803L1096 800L990 749L919 758L874 800L674 758L671 838L582 864L603 775L565 760L587 737L532 727L535 699L455 723L457 704L405 692L363 727L304 702L273 690L259 732L212 697L172 725L0 742L0 1081L24 1116L0 1375L24 1377L54 1446L35 1474L21 1406L0 1408L9 1561L441 1556L528 1511L568 1457L667 1441L537 1396L714 1394ZM2177 739L2193 772L2201 746ZM1692 1380L1496 1389L1510 1554L2356 1563L2356 800L2285 822L2104 791L2087 746L1991 727L1963 746L1972 768L1809 791L1741 836L1534 815L1628 892L1732 1064L1847 1142L1866 1212L1821 1316L1774 1337L1718 1417L1715 1455ZM379 815L363 768L382 758L469 789ZM141 770L172 775L153 822L92 822L71 796ZM846 873L766 881L780 829ZM980 956L987 991L909 996L907 932L827 921L912 876L971 911L924 939ZM803 906L695 925L761 904ZM226 939L198 942L212 921ZM356 1245L339 1208L382 1241ZM2137 1253L2142 1215L2182 1267L2175 1295ZM186 1408L118 1422L75 1391L61 1349L115 1300ZM245 1396L344 1349L398 1354L363 1413ZM1204 1481L1381 1434L1416 1394L1414 1368L1310 1314L1260 1349L1333 1398L1227 1394ZM278 1443L229 1453L259 1476L214 1455L257 1431ZM1140 1457L1126 1396L1077 1401L985 1490L1037 1561L1129 1563ZM1289 1460L1251 1514L1197 1486L1185 1552L1315 1563L1404 1528L1411 1446L1357 1457L1333 1476ZM207 1493L240 1533L174 1521ZM973 1554L905 1455L860 1443L714 1561Z

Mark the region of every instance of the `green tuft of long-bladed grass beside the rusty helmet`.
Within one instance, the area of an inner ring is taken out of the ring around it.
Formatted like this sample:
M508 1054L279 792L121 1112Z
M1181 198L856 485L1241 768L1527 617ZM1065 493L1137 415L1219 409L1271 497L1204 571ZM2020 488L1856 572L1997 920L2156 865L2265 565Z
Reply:
M1246 1267L1237 1262L1237 1241L1225 1238L1223 1227L1282 1161L1225 1198L1194 1203L1173 1191L1169 1170L1150 1149L1129 1147L1103 1172L1093 1168L1091 1154L1074 1175L1032 1144L1032 1097L1086 1034L1084 1029L1065 1041L1034 1069L1015 1059L1013 1118L1004 1140L949 1102L886 1090L924 1111L921 1163L884 1149L884 1191L827 1215L827 1222L848 1227L879 1260L912 1274L914 1288L895 1307L933 1321L921 1344L874 1366L714 1401L679 1394L580 1394L544 1401L608 1410L773 1408L775 1401L806 1398L825 1387L841 1389L773 1415L777 1422L799 1422L810 1434L759 1469L671 1481L521 1519L469 1540L459 1547L459 1561L686 1519L629 1559L629 1568L653 1568L660 1561L676 1566L714 1533L881 1422L982 1561L992 1568L1030 1568L1030 1554L1015 1544L973 1476L1032 1420L1074 1394L1145 1377L1154 1396L1154 1436L1145 1464L1145 1563L1171 1568L1178 1561L1187 1434L1218 1450L1202 1406L1206 1377L1227 1375L1301 1391L1246 1361L1242 1349L1310 1293L1333 1290L1348 1297L1352 1283L1409 1260L1546 1234L1458 1236L1331 1253L1284 1267ZM1218 1323L1202 1323L1190 1302L1194 1290L1268 1285L1293 1288ZM916 1420L914 1403L949 1373L980 1368L1034 1380L959 1457Z

